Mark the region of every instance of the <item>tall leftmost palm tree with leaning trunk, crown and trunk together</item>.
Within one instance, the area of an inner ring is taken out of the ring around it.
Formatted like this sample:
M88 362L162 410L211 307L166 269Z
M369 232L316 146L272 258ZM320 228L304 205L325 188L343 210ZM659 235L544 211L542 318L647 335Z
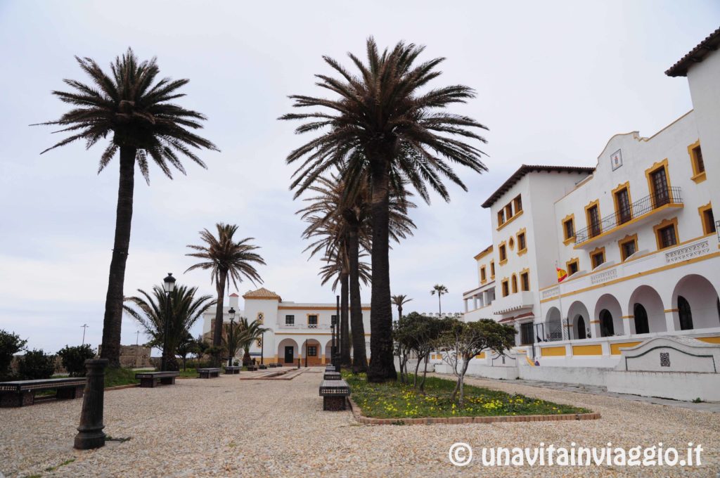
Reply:
M65 84L75 91L53 91L61 102L70 104L72 109L59 120L41 124L59 125L63 127L59 132L69 132L70 135L42 153L76 140L84 140L85 148L89 149L99 140L109 137L109 144L100 156L98 173L119 153L120 186L100 356L109 359L111 366L120 366L122 287L130 247L135 163L149 184L148 160L156 163L172 179L171 166L185 174L181 163L183 157L207 168L191 148L216 151L217 148L192 132L202 128L199 120L205 120L204 115L173 102L185 96L179 89L189 80L163 78L155 82L160 72L155 58L140 62L128 48L125 55L115 58L109 74L91 58L75 59L90 76L91 84L66 79L63 80Z

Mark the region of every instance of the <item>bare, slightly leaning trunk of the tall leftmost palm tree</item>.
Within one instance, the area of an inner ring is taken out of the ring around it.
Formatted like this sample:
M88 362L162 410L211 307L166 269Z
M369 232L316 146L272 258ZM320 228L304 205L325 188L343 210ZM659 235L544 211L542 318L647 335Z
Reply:
M135 188L135 154L137 150L120 147L120 185L117 188L117 211L115 214L115 238L112 261L107 281L105 316L102 323L101 358L107 358L110 366L120 366L120 330L122 328L122 286L125 284L125 263L130 248L132 225L132 192Z

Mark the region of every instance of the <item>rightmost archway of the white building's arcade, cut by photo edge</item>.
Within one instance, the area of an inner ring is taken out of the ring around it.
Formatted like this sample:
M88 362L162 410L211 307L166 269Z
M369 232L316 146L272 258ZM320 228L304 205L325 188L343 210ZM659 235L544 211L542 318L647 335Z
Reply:
M688 274L678 281L672 292L676 330L718 327L718 293L708 279Z

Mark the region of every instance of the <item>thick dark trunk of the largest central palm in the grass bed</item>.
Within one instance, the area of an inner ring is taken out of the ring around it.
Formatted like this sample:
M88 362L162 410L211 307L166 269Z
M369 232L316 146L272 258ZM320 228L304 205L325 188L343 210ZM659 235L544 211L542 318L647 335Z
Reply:
M394 149L394 148L393 148ZM372 299L370 302L370 366L368 382L397 380L392 355L390 302L390 159L394 151L369 154L372 174Z

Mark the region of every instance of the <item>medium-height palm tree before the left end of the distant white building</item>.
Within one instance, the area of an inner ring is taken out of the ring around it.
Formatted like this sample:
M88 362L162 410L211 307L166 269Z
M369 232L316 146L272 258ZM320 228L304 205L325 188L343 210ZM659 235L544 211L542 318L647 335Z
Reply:
M228 287L228 277L233 282L233 287L238 288L238 282L243 281L243 277L250 280L253 285L256 282L262 284L260 274L255 269L255 264L265 264L260 254L254 252L260 247L250 243L254 238L245 238L235 240L233 237L238 231L238 226L223 224L218 222L217 237L212 235L209 230L200 231L200 238L204 241L204 245L188 245L187 247L194 249L194 253L185 254L186 256L203 259L203 262L194 264L187 268L185 272L194 269L210 270L210 283L215 283L217 291L217 308L215 309L215 328L212 331L212 345L220 346L222 341L222 307L225 299L225 285Z

